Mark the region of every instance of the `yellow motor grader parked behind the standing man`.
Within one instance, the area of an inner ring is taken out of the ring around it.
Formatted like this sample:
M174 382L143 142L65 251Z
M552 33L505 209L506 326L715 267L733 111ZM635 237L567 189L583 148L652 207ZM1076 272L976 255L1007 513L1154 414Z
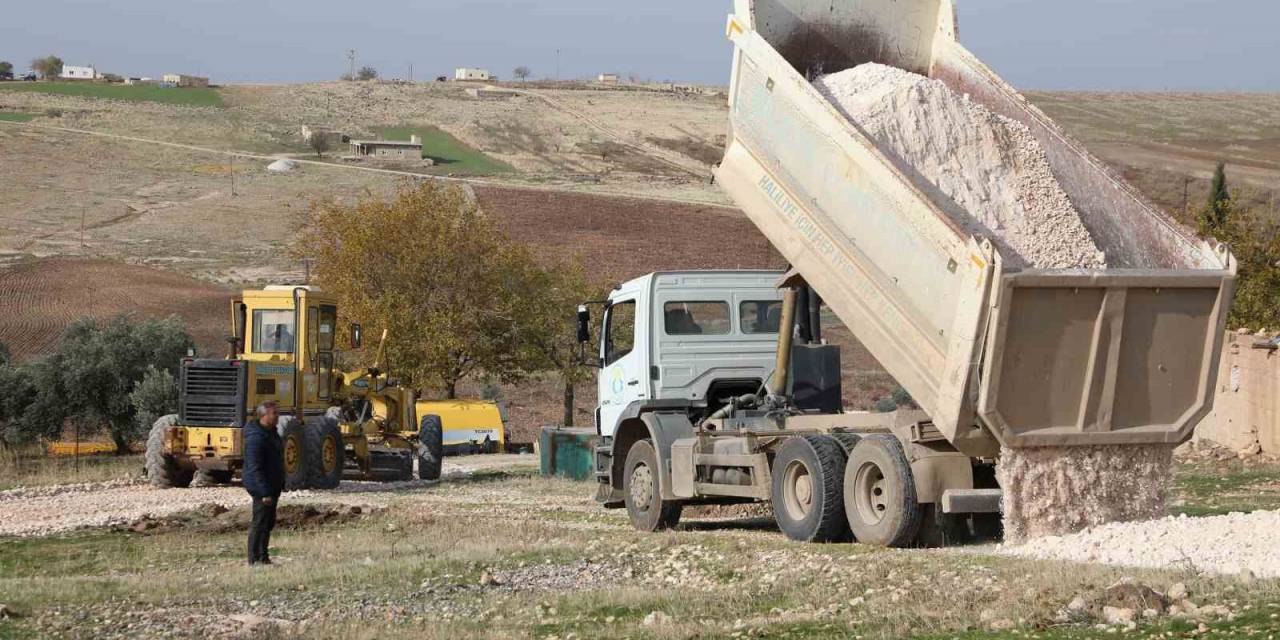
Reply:
M224 360L186 358L178 413L147 439L155 486L229 483L243 466L241 429L268 401L279 406L285 489L332 489L346 477L410 480L440 476L443 426L419 415L411 389L374 366L334 366L338 305L314 287L275 285L232 300ZM383 334L385 339L385 333ZM361 347L351 326L352 348Z

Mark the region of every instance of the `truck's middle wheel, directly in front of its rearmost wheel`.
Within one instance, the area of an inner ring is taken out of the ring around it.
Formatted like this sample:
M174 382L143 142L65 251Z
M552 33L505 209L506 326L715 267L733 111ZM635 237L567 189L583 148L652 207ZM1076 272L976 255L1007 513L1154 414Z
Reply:
M773 458L773 518L792 540L847 540L845 449L829 435L788 438Z

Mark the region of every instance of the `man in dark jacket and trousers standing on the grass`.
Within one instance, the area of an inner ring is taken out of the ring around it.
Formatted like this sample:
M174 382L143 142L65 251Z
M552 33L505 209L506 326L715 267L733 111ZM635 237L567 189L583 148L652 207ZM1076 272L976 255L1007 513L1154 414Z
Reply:
M257 406L257 419L244 422L244 490L253 497L253 521L248 527L248 563L270 564L268 545L275 527L275 507L284 490L284 447L275 430L279 407L266 401Z

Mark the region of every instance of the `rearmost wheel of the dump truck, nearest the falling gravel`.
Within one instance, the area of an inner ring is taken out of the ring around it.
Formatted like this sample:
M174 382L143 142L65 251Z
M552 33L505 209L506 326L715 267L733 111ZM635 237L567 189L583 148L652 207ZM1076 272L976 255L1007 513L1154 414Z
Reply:
M897 438L867 435L854 447L845 467L845 513L860 543L906 547L915 540L920 504Z

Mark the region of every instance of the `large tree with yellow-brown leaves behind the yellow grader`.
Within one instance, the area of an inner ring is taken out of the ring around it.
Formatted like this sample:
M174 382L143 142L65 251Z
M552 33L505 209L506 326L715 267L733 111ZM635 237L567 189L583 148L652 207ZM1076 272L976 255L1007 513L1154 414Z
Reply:
M511 241L465 188L404 183L390 200L317 202L301 223L294 255L347 321L388 330L387 369L404 384L454 398L474 375L580 375L566 340L581 270Z

